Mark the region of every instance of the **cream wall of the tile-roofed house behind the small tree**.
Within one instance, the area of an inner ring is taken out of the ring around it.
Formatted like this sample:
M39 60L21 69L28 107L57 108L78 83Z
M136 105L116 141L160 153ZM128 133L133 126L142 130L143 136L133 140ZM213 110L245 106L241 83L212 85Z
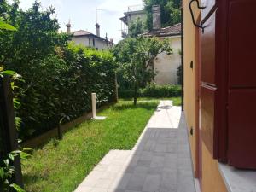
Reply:
M163 39L163 38L162 38ZM181 65L181 37L169 37L172 55L161 53L154 61L154 71L157 75L154 78L156 84L177 84L177 67Z

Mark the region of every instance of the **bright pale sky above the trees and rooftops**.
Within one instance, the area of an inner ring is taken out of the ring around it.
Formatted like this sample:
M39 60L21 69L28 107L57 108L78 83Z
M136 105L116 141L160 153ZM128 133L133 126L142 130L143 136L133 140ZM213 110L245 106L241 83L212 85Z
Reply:
M20 0L20 8L32 7L35 0ZM55 17L59 20L61 31L67 31L66 24L71 22L72 31L80 29L96 34L96 9L98 23L101 25L101 36L113 38L117 43L121 39L120 17L127 11L128 6L142 4L142 0L39 0L44 8L53 5Z

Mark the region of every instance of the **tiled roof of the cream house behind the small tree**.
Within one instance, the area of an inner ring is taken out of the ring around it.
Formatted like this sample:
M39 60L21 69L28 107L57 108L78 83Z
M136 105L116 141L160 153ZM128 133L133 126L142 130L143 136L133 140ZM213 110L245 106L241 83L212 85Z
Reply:
M177 36L181 35L181 23L178 23L174 26L167 26L165 28L161 28L160 30L156 30L153 32L145 32L143 36L156 36L156 37L168 37L168 36Z

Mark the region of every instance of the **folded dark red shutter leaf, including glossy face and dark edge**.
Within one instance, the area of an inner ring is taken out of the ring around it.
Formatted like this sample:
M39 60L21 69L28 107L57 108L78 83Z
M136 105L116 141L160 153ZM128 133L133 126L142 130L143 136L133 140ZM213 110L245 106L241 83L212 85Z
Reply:
M212 157L227 151L227 1L204 0L201 35L201 138Z

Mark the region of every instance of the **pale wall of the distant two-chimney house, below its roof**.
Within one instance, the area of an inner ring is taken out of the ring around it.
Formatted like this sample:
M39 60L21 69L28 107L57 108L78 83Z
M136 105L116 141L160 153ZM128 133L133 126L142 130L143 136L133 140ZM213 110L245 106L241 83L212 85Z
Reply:
M102 41L99 38L94 38L94 39L95 39L95 46L93 45L93 38L88 36L74 37L72 38L72 41L75 44L83 44L86 47L94 47L95 49L99 49L99 50L109 49L108 44L105 41Z

